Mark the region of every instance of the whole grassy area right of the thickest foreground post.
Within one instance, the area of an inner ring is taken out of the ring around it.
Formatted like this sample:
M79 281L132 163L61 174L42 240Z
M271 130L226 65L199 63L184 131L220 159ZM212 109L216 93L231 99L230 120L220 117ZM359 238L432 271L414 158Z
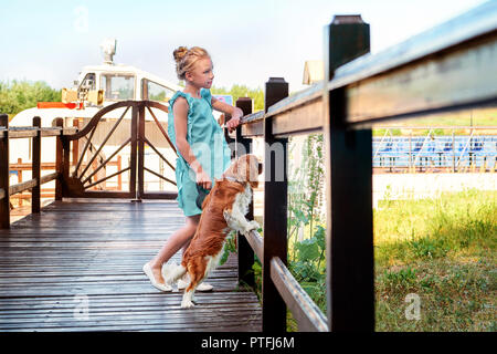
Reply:
M374 212L377 331L497 331L497 191L387 200ZM408 294L420 319L408 320Z

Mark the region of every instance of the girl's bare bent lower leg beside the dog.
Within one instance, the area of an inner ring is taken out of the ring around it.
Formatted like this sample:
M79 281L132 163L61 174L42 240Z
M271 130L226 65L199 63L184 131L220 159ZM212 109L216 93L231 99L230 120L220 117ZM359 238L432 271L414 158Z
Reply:
M166 263L180 248L183 248L183 252L197 231L199 225L200 215L192 217L187 217L187 222L184 226L175 231L169 239L166 241L165 246L159 250L159 253L150 261L150 268L154 273L154 278L157 282L163 284L165 280L162 278L162 264Z

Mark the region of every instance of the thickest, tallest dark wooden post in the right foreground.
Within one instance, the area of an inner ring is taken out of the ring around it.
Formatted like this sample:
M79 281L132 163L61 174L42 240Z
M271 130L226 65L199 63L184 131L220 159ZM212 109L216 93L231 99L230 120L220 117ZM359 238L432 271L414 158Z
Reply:
M325 79L369 52L369 24L335 17L325 29ZM374 331L371 129L347 126L347 87L324 91L327 288L331 331Z

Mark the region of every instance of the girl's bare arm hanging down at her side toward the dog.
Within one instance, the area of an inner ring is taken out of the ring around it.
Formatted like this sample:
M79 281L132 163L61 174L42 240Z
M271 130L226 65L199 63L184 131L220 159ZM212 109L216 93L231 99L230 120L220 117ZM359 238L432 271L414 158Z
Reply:
M212 183L209 175L203 170L202 165L197 160L190 144L187 140L188 132L188 102L183 97L178 97L172 107L175 116L176 145L184 160L190 165L197 175L197 184L205 189L211 189Z

